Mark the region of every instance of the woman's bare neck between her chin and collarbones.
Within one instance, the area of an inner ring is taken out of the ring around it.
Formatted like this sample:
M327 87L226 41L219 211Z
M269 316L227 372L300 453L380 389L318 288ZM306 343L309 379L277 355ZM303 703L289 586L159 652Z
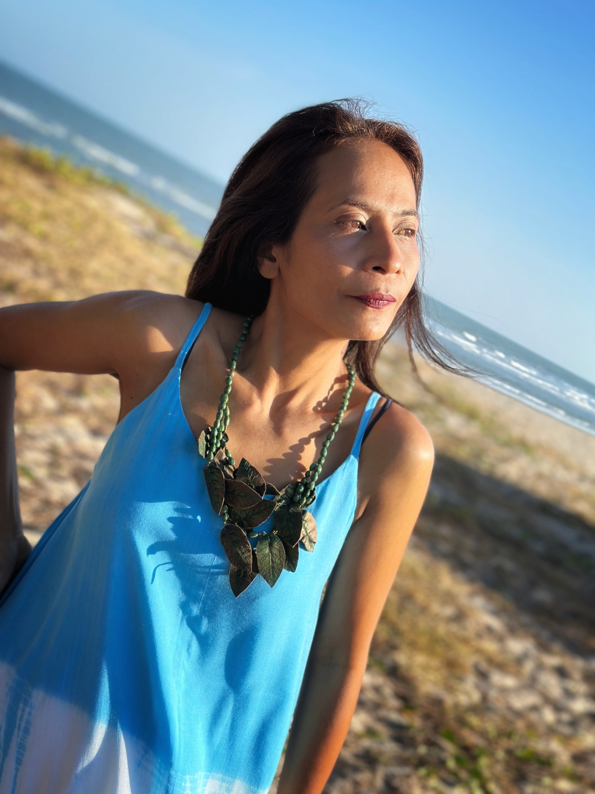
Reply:
M343 356L348 340L332 339L287 306L269 301L252 322L238 372L261 404L290 403L334 410L347 385Z

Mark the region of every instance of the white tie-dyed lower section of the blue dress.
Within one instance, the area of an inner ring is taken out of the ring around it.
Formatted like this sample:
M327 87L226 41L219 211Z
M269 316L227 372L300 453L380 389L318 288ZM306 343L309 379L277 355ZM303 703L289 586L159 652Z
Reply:
M94 723L79 708L33 690L0 663L0 794L266 794L223 775L163 769L119 726Z

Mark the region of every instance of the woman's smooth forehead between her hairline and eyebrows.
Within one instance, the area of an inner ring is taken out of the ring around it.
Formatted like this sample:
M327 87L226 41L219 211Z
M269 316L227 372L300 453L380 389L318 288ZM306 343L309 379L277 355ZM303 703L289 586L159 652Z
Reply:
M416 206L409 168L401 155L382 141L344 141L318 158L313 202L336 202L356 195L391 208Z

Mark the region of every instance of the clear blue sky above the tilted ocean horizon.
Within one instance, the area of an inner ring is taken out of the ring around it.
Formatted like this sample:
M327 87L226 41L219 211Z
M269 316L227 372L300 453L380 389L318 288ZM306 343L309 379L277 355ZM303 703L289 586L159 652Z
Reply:
M424 151L426 288L595 382L595 4L0 0L0 59L225 182L363 96Z

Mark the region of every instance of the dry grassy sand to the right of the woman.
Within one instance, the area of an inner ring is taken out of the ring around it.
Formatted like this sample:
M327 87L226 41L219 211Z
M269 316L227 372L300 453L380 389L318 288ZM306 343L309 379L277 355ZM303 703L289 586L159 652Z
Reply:
M436 468L325 792L595 791L595 439L386 349Z

